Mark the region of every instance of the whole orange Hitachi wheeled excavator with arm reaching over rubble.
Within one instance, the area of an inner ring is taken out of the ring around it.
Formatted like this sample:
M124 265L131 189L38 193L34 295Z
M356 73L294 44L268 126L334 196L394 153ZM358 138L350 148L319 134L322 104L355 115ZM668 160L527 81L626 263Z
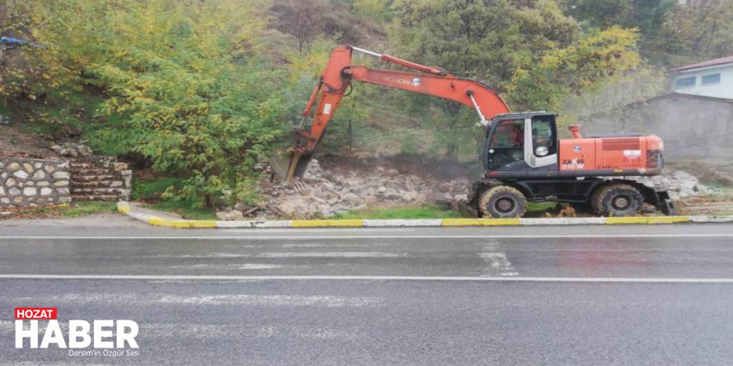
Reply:
M354 51L414 71L355 66ZM292 152L270 159L276 175L287 180L303 175L355 80L452 100L476 111L484 133L480 149L484 173L472 184L468 206L479 217L520 217L527 202L546 201L580 203L605 216L637 214L644 203L676 214L666 191L627 179L661 172L663 141L658 136L622 133L583 138L580 126L573 124L569 127L573 138L559 139L554 113L511 113L484 83L350 45L331 51L303 110L305 121L315 106L310 130L296 128Z

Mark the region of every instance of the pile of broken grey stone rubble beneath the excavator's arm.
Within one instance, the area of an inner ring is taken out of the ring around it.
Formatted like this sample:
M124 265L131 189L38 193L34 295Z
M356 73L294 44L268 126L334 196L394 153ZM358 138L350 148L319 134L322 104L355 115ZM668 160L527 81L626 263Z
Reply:
M372 171L325 171L318 160L311 160L297 182L262 182L266 203L258 207L237 204L217 212L219 220L241 220L246 216L331 217L351 209L371 207L449 203L468 198L470 180L435 179L376 165Z

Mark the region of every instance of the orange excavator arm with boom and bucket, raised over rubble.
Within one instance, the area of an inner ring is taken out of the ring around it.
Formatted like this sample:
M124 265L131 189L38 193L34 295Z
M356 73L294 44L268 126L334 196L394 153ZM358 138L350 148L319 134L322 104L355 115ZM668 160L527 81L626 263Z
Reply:
M367 53L370 56L378 57L382 61L398 64L419 72L352 66L353 51ZM304 130L302 127L295 129L295 143L293 144L290 163L287 164L287 173L284 172L282 165L280 167L273 166L280 176L284 176L287 180L292 179L293 176L302 176L309 158L323 138L328 122L331 121L334 113L338 110L339 103L353 80L460 102L476 110L480 123L484 127L487 127L493 116L500 113L509 113L507 103L496 94L496 91L483 83L457 78L438 67L415 64L350 45L339 46L331 51L328 64L321 73L308 104L303 110L303 120L305 120L311 116L315 107L310 130Z

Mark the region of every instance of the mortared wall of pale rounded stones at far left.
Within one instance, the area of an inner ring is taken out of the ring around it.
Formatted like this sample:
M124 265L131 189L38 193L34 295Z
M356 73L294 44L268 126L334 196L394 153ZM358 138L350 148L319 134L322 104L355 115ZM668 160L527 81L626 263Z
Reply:
M0 157L0 208L71 202L67 160Z

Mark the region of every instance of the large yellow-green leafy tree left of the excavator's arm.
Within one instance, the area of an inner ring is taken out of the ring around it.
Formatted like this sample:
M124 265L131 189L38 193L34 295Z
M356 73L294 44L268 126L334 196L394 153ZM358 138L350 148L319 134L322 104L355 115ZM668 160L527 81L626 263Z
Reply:
M34 31L54 80L94 86L100 111L123 116L103 135L152 168L186 178L166 193L196 205L253 199L254 165L281 130L283 76L259 58L268 4L45 1Z

